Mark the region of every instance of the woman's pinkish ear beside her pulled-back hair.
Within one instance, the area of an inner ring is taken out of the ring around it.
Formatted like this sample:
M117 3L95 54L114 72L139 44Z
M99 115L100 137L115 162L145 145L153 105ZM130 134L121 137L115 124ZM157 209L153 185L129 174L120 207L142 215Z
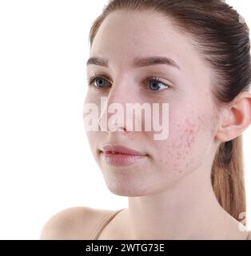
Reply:
M248 128L251 123L251 94L241 92L224 109L217 126L215 138L221 142L228 142L236 138Z

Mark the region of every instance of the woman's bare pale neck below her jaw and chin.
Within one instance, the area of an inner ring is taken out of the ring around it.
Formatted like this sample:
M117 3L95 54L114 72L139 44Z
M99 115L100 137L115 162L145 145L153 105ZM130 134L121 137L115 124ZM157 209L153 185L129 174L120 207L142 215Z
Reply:
M208 176L196 170L168 190L129 197L127 214L132 239L207 239L224 236L225 219L231 219L235 224L237 221L217 202Z

